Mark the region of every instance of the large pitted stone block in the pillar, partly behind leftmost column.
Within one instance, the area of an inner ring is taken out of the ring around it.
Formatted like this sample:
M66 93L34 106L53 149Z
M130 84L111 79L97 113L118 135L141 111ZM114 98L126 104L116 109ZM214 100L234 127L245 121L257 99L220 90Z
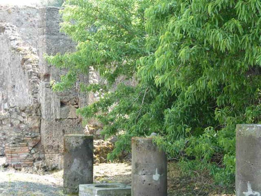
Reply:
M84 129L79 118L41 120L41 143L45 153L62 153L63 135L83 133Z

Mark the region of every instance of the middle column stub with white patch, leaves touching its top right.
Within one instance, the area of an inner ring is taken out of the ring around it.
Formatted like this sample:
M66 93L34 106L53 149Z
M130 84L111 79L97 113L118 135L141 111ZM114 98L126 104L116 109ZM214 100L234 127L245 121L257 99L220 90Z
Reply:
M167 195L167 158L153 138L132 138L132 196Z

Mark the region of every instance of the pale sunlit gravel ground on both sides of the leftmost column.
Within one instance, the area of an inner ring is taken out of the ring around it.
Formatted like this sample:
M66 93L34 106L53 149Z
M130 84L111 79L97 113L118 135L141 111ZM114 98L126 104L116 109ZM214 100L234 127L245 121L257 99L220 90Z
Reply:
M0 158L0 165L5 162ZM126 163L102 163L94 165L94 183L120 182L131 184L131 165ZM63 170L43 172L39 170L16 171L0 168L0 196L60 196L63 186Z

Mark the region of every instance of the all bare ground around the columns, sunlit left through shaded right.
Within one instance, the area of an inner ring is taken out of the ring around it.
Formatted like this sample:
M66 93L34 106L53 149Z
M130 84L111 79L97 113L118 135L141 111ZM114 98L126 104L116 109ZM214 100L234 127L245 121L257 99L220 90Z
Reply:
M0 158L0 165L4 163ZM2 162L2 163L1 163ZM131 185L130 163L94 165L94 183L120 182ZM63 170L44 172L0 168L0 196L60 196ZM231 194L232 192L232 194ZM176 163L168 163L169 196L234 196L232 190L214 186L207 175L181 176ZM229 194L230 193L230 194Z

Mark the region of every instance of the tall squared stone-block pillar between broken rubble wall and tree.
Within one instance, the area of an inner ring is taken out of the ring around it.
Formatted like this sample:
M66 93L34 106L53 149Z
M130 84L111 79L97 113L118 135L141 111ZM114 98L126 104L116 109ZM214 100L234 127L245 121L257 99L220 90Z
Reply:
M40 8L39 15L39 55L72 51L75 48L66 35L60 33L61 22L58 8ZM63 166L63 135L81 134L84 129L81 119L76 116L81 95L76 88L70 91L54 93L50 88L51 80L60 80L66 73L64 69L50 66L40 58L40 103L41 103L41 144L45 151L45 164L53 168Z

